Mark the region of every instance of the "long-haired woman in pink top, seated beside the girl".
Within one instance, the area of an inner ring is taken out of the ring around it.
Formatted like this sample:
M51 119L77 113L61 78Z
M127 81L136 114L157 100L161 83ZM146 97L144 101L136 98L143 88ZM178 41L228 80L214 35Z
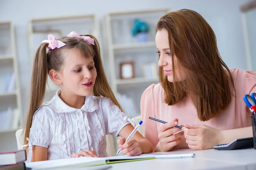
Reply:
M155 151L209 149L253 136L243 96L256 92L256 73L229 70L212 28L195 11L165 14L156 31L160 83L141 98L144 135Z

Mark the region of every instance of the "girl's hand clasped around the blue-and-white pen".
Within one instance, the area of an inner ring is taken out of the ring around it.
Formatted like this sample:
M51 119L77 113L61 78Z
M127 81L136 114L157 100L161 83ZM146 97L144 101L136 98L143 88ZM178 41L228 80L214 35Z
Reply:
M117 140L117 144L122 150L122 153L128 156L138 156L142 154L142 149L140 147L140 142L136 141L135 139L129 139L125 142L126 138L122 138Z

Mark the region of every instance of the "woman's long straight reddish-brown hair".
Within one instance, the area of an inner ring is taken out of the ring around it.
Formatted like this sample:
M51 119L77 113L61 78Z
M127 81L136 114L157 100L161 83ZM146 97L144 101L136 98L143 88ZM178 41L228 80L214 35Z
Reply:
M189 96L201 121L218 116L229 105L235 88L212 28L197 12L181 9L161 17L156 27L160 30L168 32L174 75L174 82L169 82L159 68L164 102L175 105ZM180 76L186 79L178 81Z

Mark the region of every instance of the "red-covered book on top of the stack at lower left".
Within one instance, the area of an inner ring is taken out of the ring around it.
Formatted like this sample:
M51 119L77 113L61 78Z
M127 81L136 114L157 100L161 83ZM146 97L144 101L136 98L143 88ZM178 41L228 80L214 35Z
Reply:
M26 150L0 152L0 166L18 164L23 161L26 161Z

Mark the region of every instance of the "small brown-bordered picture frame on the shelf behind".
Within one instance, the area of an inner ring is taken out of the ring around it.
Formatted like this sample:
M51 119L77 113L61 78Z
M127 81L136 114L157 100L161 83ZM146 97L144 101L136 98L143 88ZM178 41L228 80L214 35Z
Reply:
M133 79L134 77L134 62L120 62L120 79Z

